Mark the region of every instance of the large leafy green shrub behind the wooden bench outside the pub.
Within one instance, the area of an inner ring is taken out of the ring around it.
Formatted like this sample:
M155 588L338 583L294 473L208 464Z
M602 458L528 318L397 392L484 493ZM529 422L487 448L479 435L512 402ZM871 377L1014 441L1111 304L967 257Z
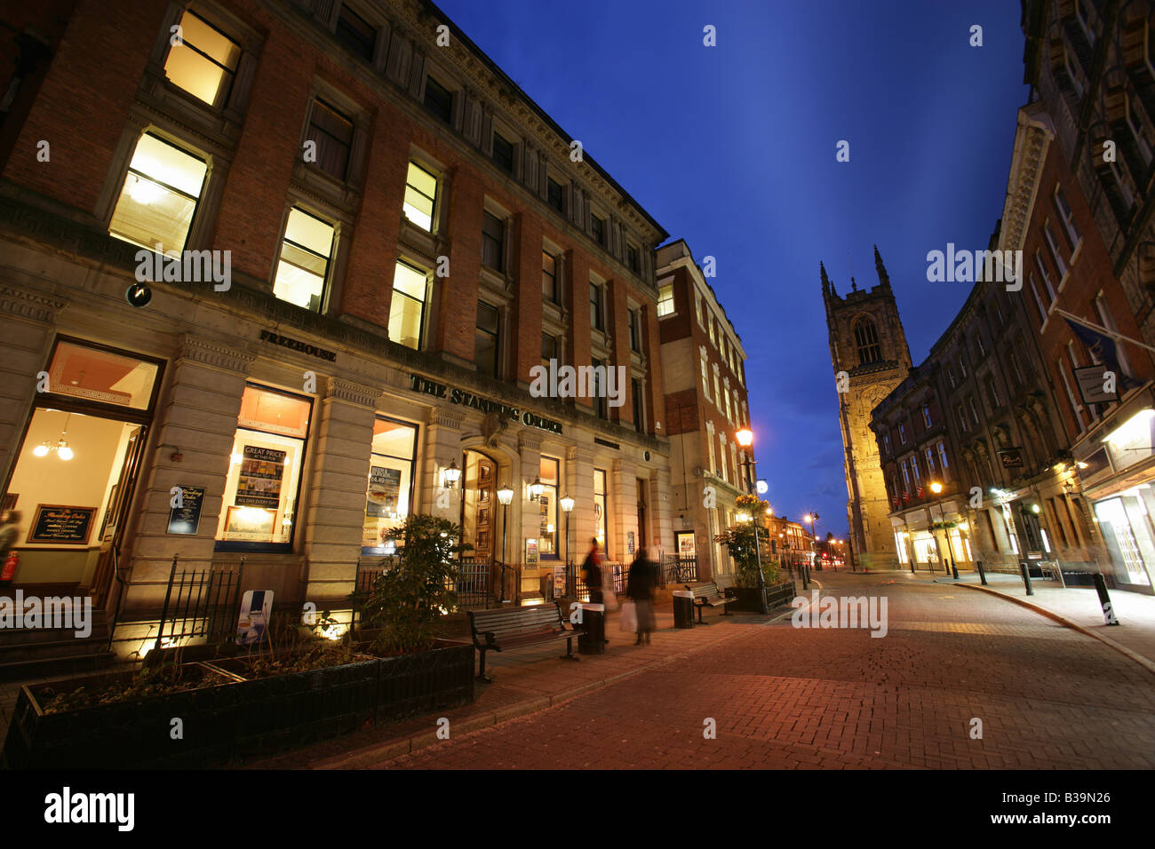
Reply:
M352 599L363 623L378 631L370 650L396 655L425 651L442 634L444 615L457 604L450 587L457 576L454 557L472 549L461 542L461 526L427 513L410 515L389 531L397 563Z

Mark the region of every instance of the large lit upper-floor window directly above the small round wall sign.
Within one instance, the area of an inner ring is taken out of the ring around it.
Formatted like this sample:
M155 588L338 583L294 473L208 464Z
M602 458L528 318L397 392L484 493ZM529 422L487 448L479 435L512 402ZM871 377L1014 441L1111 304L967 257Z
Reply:
M170 256L185 250L208 164L146 133L136 142L109 233Z

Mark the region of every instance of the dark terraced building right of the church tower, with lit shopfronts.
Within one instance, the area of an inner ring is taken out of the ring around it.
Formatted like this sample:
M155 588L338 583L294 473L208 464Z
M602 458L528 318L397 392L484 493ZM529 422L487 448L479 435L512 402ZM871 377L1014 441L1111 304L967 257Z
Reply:
M1057 481L1064 440L1030 334L1022 298L979 281L927 358L874 409L904 567L982 560L1013 572L1020 557L1053 554L1038 492Z

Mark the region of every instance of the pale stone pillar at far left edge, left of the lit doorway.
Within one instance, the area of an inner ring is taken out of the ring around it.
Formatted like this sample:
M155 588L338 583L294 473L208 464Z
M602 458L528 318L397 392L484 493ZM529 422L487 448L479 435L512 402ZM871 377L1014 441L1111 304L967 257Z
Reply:
M16 462L24 423L35 403L37 374L52 348L57 312L68 301L0 283L0 481ZM51 383L49 390L52 390ZM31 515L24 516L31 521Z

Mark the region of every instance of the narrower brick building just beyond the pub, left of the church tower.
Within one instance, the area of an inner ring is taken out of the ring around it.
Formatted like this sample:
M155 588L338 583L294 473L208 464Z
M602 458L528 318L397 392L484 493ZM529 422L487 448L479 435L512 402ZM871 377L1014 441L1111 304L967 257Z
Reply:
M746 352L684 240L658 248L657 265L673 536L708 581L733 572L714 536L735 523L735 499L753 486L736 437L750 427Z

